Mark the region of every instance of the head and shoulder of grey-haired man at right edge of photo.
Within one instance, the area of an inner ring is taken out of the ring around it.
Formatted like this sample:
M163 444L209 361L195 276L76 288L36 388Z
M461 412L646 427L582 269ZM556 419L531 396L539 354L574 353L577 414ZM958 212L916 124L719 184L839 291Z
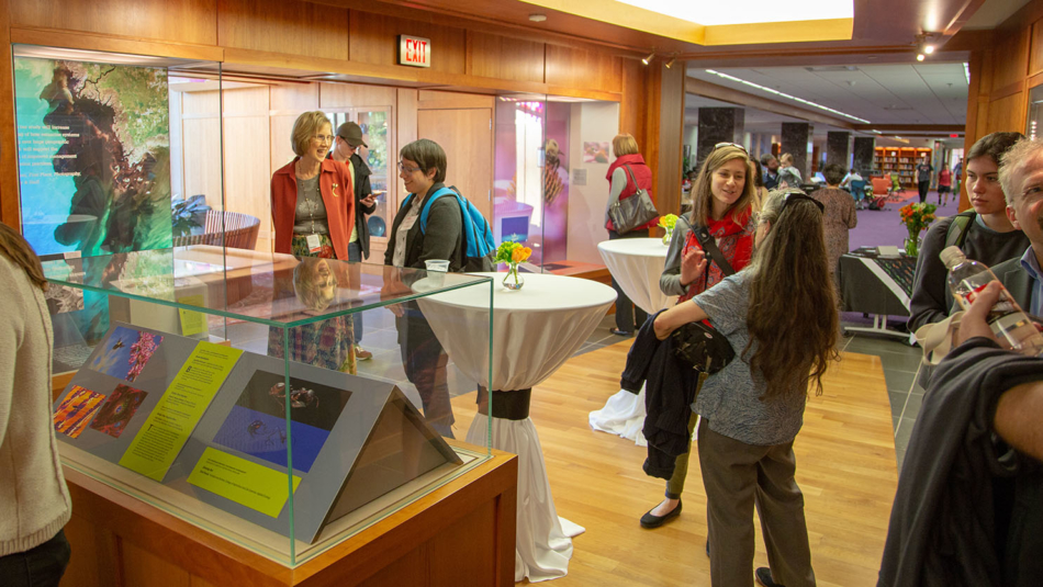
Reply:
M1043 316L1043 140L1023 139L1008 150L999 181L1007 194L1007 217L1024 232L1030 246L992 272L1022 309Z

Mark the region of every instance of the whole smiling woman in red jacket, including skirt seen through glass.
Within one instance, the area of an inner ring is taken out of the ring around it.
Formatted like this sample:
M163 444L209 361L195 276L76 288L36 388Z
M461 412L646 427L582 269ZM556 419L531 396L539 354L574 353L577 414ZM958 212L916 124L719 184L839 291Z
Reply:
M348 168L326 158L333 146L333 125L319 111L305 112L293 123L290 140L296 157L271 177L274 251L347 261L355 226L355 188ZM294 297L289 280L277 279L276 290L277 300ZM289 329L290 360L355 373L355 334L348 318ZM283 355L281 328L269 330L268 354Z

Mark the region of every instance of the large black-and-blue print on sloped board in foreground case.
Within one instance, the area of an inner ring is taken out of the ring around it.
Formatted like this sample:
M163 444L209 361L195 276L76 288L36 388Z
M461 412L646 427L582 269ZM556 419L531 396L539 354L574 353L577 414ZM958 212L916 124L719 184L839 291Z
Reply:
M258 371L225 418L214 442L269 463L287 466L287 400L293 469L307 473L337 424L351 392Z

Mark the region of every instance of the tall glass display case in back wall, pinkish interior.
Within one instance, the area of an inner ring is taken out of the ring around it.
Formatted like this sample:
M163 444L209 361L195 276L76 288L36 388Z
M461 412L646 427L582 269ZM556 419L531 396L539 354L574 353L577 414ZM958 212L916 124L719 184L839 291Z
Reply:
M603 268L615 102L509 94L496 99L493 236L532 249L530 269Z

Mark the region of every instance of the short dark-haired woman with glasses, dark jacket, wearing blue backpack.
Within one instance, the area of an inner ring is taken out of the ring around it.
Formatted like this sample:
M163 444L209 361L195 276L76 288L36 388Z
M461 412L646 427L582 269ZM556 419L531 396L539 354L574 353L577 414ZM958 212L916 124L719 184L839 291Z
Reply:
M425 261L448 260L449 271L460 271L466 262L463 216L456 197L435 200L422 225L420 212L434 194L446 187L446 151L438 143L422 138L399 153L399 178L411 194L391 224L384 264L392 268L426 269ZM385 271L385 289L397 281ZM399 292L407 291L404 287ZM395 293L389 291L389 293ZM452 406L446 366L449 357L435 337L415 302L397 305L395 326L402 347L406 377L416 385L424 404L424 417L441 436L452 438Z

